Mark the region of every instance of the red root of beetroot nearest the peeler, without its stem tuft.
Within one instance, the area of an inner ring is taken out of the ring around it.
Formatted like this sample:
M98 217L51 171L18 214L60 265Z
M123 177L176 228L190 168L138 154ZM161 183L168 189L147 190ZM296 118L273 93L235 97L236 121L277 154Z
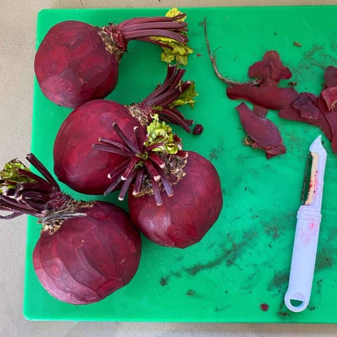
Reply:
M185 248L199 242L217 221L223 205L220 179L211 162L188 152L186 175L173 185L174 195L161 193L163 205L154 196L135 198L129 189L130 217L151 241Z

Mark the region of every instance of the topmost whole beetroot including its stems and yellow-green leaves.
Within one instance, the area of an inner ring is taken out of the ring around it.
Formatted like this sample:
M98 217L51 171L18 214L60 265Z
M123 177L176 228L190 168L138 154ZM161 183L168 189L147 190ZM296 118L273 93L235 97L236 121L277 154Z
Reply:
M130 40L163 48L162 59L186 64L186 14L173 8L164 17L134 18L94 27L80 21L53 26L35 56L35 74L44 95L68 108L106 97L118 79L118 63Z

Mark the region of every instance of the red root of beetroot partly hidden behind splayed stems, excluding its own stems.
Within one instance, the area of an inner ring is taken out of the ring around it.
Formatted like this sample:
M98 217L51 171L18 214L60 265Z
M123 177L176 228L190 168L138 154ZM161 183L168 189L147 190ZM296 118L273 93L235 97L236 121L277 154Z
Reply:
M96 151L92 144L98 142L98 136L118 142L114 122L131 140L135 139L133 127L141 127L123 105L112 101L91 101L69 114L54 144L54 171L60 181L81 193L104 193L111 184L108 174L125 158Z

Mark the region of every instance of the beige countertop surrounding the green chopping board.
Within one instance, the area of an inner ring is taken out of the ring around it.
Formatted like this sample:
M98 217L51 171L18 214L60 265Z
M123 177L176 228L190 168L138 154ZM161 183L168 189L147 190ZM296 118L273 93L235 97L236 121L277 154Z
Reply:
M30 151L37 12L42 8L337 4L337 0L0 0L0 165ZM26 219L0 226L0 337L337 336L334 325L30 322L22 315Z

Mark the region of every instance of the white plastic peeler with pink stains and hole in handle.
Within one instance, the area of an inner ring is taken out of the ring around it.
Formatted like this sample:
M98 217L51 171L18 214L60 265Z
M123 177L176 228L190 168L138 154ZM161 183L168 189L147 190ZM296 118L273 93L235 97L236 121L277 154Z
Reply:
M312 166L308 197L297 212L289 285L284 296L286 307L293 312L303 311L308 306L314 277L327 161L327 152L322 146L321 136L311 144L310 154Z

